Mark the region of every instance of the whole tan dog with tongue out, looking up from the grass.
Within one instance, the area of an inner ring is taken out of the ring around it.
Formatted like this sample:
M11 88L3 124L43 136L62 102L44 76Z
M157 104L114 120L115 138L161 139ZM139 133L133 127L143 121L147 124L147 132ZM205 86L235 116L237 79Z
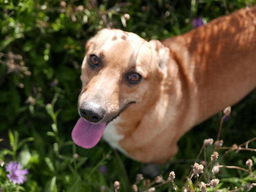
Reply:
M103 29L86 49L74 142L90 148L104 132L131 158L162 163L191 127L256 86L256 7L162 42Z

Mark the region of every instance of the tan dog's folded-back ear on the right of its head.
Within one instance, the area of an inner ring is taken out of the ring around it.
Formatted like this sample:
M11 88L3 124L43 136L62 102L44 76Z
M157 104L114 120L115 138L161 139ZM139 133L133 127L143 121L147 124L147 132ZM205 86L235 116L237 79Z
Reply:
M161 69L166 68L166 62L170 58L170 49L165 47L159 40L150 40L151 47L157 52L158 65Z

